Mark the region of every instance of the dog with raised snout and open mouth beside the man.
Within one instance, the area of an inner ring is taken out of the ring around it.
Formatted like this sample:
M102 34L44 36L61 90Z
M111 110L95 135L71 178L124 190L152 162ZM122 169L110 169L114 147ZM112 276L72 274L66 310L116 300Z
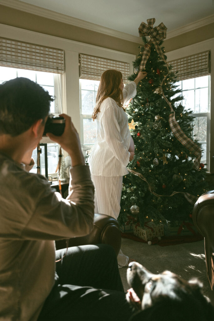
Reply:
M127 268L133 306L130 321L214 321L214 308L203 296L202 283L185 281L175 273L153 274L137 262Z

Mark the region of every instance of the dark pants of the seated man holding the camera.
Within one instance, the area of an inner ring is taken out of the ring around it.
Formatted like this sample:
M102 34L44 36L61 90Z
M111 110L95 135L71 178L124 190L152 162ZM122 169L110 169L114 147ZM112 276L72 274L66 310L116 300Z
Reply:
M56 251L56 260L65 250ZM131 314L113 248L84 245L69 247L56 263L56 283L38 321L125 321Z

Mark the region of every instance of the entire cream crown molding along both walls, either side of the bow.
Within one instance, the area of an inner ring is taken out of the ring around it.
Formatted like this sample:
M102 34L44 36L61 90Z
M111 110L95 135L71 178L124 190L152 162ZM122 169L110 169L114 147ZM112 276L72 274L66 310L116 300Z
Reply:
M132 42L141 44L140 37L130 35L128 33L122 32L122 31L107 28L104 26L100 26L96 23L92 23L92 22L84 21L84 20L81 20L78 18L74 18L74 17L68 16L66 14L57 13L55 11L41 8L41 7L38 7L34 4L28 4L28 3L20 1L20 0L0 0L0 4L10 7L10 8L13 8L13 9L28 12L31 14L36 14L38 16L41 16L41 17L44 17L47 19L56 20L59 22L71 24L71 25L79 27L79 28L88 29L91 31L103 33L108 36L112 36L112 37L116 37L119 39L132 41ZM214 14L212 14L208 17L202 18L200 20L197 20L195 22L188 23L187 25L184 25L180 28L168 31L166 39L170 39L170 38L179 36L183 33L203 27L203 26L210 24L212 22L214 22Z

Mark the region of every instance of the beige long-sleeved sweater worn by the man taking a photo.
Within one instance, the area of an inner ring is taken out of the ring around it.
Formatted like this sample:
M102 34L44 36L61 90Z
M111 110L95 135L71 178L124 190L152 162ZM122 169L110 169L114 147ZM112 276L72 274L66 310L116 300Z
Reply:
M63 199L47 180L0 153L0 320L34 321L54 285L54 240L93 227L88 166L71 169Z

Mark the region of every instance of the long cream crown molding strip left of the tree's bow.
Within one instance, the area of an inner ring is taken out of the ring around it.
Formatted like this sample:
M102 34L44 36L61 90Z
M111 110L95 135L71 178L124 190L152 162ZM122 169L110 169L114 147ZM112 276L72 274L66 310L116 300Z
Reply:
M68 16L66 14L57 13L52 10L38 7L34 4L28 4L26 2L19 1L19 0L0 0L0 4L10 7L10 8L13 8L13 9L36 14L36 15L44 17L44 18L48 18L48 19L59 21L59 22L71 24L71 25L79 27L79 28L84 28L84 29L88 29L91 31L100 32L100 33L103 33L108 36L120 38L120 39L127 40L127 41L136 42L139 44L141 43L140 37L130 35L125 32L117 31L117 30L114 30L111 28L103 27L103 26L100 26L96 23L92 23L92 22L84 21L84 20L81 20L78 18L74 18L74 17Z

